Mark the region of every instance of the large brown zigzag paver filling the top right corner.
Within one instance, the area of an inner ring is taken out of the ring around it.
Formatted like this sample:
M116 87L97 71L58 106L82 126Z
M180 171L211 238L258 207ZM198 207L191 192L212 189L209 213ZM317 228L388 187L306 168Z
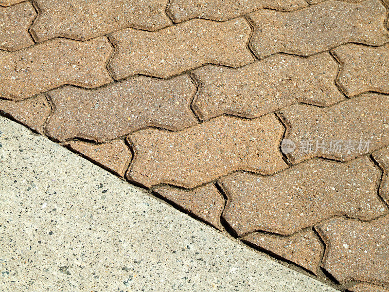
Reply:
M260 10L250 44L264 58L276 53L313 55L348 42L382 45L389 40L386 9L379 0L324 1L295 12Z

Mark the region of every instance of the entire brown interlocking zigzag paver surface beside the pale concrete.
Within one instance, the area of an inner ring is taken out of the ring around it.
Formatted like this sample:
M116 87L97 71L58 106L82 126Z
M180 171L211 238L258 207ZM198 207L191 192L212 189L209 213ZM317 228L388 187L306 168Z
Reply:
M302 273L388 291L388 4L0 0L0 111Z

